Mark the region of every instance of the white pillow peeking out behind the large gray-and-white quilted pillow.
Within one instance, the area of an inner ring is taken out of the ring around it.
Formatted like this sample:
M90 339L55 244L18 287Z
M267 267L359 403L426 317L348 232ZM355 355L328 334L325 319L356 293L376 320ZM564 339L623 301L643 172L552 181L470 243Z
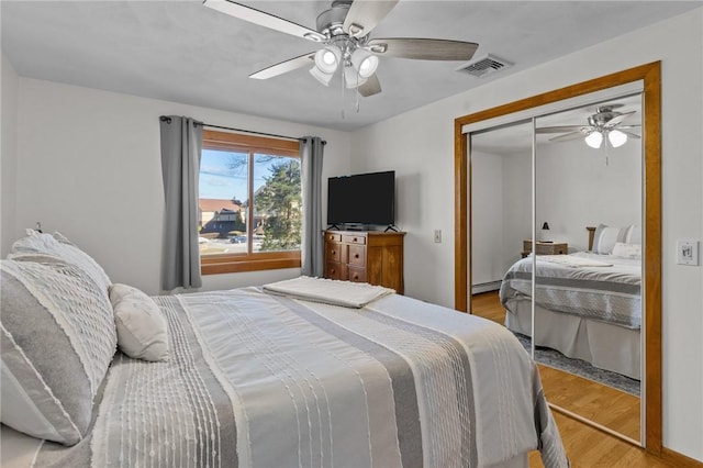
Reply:
M112 283L100 264L60 233L52 235L26 230L26 236L12 244L12 253L8 258L14 258L21 254L46 254L59 257L85 270L105 291Z

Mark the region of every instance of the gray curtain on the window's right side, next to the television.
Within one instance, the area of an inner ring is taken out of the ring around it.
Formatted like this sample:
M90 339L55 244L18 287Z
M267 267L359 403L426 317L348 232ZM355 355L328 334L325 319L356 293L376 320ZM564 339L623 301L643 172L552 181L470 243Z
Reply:
M300 246L302 274L323 276L322 238L322 154L323 142L317 136L301 138L301 178L303 185L303 238Z

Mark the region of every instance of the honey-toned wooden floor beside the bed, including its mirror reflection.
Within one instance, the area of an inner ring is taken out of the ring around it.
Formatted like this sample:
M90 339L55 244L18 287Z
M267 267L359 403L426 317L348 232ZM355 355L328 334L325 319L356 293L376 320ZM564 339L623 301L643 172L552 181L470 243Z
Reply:
M473 314L503 324L505 311L500 305L498 293L486 292L473 296ZM576 403L578 412L601 424L639 439L639 399L610 389L557 369L539 366L539 375L547 400L568 406ZM601 404L607 401L607 405ZM605 408L604 411L598 408ZM573 406L569 408L573 411ZM670 467L660 458L647 454L634 444L606 434L588 424L553 411L571 467ZM531 467L543 467L537 452L531 454Z

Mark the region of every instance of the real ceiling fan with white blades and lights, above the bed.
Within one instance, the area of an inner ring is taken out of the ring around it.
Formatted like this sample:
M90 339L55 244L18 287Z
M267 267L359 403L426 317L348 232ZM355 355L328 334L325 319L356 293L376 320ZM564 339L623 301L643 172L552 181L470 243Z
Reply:
M369 34L395 7L399 0L334 0L323 11L312 30L279 16L230 0L204 0L213 10L275 31L321 44L321 48L293 57L249 75L268 79L301 67L310 69L320 82L330 85L337 70L347 88L364 96L381 92L376 76L379 57L402 57L422 60L470 60L478 44L419 37L370 38Z

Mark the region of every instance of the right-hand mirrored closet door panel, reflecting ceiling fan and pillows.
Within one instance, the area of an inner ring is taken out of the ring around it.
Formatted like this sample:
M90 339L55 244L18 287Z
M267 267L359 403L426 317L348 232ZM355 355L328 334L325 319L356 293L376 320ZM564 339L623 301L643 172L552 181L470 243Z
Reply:
M533 336L553 404L640 441L641 94L535 119Z

